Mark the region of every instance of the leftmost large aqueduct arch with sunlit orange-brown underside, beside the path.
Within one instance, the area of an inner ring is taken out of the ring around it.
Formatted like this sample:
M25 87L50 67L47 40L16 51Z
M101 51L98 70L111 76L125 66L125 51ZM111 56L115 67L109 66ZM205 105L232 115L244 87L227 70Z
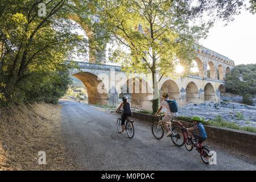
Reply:
M96 75L89 72L80 72L75 73L73 76L84 83L88 92L89 104L109 105L109 91L102 80L99 80ZM101 93L98 90L99 86L101 86Z

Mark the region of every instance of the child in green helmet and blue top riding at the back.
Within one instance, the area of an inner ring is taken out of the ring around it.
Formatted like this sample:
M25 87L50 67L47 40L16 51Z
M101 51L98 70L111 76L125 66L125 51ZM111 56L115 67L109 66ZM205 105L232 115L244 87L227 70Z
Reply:
M188 131L198 131L198 134L193 134L192 137L199 140L199 143L203 143L207 139L207 133L205 131L204 125L201 123L203 121L199 116L195 115L191 118L194 127L187 129Z

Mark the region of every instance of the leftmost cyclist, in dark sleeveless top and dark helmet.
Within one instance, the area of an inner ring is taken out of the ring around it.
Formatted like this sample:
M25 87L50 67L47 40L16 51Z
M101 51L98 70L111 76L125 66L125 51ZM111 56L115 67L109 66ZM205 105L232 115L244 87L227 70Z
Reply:
M122 103L118 107L118 109L115 112L118 112L121 108L123 108L123 114L122 114L122 122L121 122L121 127L122 127L122 132L125 131L125 120L127 117L131 117L133 115L133 112L131 111L131 106L130 103L127 101L128 98L126 96L123 96L122 98Z

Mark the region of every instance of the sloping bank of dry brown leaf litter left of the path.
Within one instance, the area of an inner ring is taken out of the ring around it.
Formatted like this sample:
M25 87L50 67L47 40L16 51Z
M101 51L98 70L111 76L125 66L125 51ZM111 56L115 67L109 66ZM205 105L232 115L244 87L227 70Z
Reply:
M2 109L0 113L0 170L75 169L60 130L60 105L34 104ZM38 164L46 152L47 165Z

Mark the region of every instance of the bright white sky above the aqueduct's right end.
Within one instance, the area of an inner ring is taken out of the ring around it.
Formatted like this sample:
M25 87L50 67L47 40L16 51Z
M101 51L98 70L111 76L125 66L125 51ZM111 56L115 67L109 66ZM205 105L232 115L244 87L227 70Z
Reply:
M199 43L229 57L236 65L256 64L256 14L244 10L234 18L227 26L221 21L214 24L208 38Z

